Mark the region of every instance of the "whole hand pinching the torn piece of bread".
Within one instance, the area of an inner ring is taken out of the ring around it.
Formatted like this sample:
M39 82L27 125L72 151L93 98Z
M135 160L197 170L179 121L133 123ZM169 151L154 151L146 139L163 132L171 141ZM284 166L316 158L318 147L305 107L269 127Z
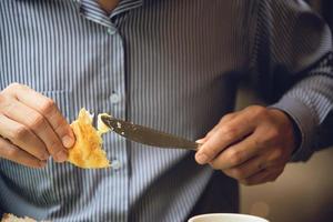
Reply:
M42 168L50 155L65 161L74 140L51 99L19 83L0 92L0 158Z

